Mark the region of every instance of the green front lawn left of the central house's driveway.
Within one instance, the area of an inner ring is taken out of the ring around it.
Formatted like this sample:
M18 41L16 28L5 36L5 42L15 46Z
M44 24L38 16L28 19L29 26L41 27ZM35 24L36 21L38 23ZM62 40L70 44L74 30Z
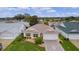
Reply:
M24 41L23 36L20 35L4 51L45 51L45 48Z

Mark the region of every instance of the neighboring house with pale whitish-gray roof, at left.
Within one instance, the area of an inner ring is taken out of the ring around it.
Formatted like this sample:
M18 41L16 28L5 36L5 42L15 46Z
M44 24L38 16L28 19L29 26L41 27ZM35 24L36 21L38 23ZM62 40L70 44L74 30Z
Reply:
M19 34L23 33L25 29L22 22L0 22L0 39L15 39Z

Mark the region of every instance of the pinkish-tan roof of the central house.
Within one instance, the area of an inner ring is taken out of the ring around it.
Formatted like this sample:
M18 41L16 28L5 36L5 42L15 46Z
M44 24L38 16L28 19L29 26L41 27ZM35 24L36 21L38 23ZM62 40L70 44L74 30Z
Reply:
M40 33L45 33L48 31L53 31L54 29L48 25L45 24L36 24L28 29L26 29L26 32L28 31L33 31L33 32L40 32Z

